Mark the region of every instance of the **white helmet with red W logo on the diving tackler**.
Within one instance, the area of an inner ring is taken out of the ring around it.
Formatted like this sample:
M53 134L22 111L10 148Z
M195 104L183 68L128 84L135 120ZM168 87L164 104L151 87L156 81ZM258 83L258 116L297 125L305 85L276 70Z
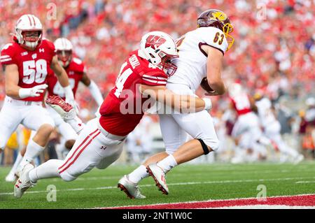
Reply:
M167 75L173 75L177 67L171 59L179 57L176 43L169 34L151 31L141 38L141 51L151 64L160 67Z

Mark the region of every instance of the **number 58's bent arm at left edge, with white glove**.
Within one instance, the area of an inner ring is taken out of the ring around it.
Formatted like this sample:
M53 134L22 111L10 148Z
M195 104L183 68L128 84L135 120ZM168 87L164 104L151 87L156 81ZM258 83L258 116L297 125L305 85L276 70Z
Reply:
M29 96L39 96L47 88L47 85L45 84L31 88L19 87L19 71L16 64L6 65L4 73L6 75L6 95L13 99L25 99Z

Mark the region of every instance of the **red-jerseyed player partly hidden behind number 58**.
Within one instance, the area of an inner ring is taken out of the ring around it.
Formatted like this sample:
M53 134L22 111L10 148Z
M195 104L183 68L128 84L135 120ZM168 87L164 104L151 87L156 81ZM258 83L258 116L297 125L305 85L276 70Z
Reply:
M66 38L57 38L57 40L54 42L54 45L57 53L58 62L64 68L66 74L68 75L69 84L71 86L73 95L76 96L78 84L79 82L82 82L86 87L90 89L90 92L94 100L97 102L97 105L101 106L103 102L102 93L99 91L99 88L97 87L95 82L93 80L90 80L90 78L87 76L87 72L83 62L73 56L73 46L71 42ZM58 95L63 99L65 98L64 89L62 85L60 85L57 76L54 75L51 69L48 69L46 84L48 85L48 96ZM62 120L62 117L60 117L60 115L56 113L55 110L53 110L50 106L46 106L46 108L48 109L50 117L52 117L52 120L54 120L55 127L57 127L59 133L62 136L61 143L56 146L56 152L60 159L64 159L63 155L71 150L78 135L68 123ZM32 136L34 135L35 133L32 132ZM22 150L20 152L20 156L22 156L22 154L24 153L25 150ZM15 172L17 171L17 168L19 166L19 161L21 161L21 159L15 160L13 168L11 168L10 172L6 176L7 182L13 182L16 180Z

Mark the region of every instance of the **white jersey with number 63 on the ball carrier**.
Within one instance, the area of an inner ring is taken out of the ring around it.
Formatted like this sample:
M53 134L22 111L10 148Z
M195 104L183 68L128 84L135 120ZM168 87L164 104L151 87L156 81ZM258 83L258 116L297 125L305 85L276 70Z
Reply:
M207 75L207 54L202 50L202 45L210 45L223 54L228 49L225 34L215 27L200 27L189 31L176 43L179 58L173 59L172 62L177 66L177 70L167 81L188 85L190 89L197 89Z

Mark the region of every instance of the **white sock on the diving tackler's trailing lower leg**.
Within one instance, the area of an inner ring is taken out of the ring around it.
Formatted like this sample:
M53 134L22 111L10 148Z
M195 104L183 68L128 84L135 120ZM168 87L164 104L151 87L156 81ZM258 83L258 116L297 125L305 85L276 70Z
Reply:
M58 168L62 163L63 161L59 159L50 159L46 161L29 171L29 180L31 180L31 182L36 182L37 180L45 178L59 178Z

